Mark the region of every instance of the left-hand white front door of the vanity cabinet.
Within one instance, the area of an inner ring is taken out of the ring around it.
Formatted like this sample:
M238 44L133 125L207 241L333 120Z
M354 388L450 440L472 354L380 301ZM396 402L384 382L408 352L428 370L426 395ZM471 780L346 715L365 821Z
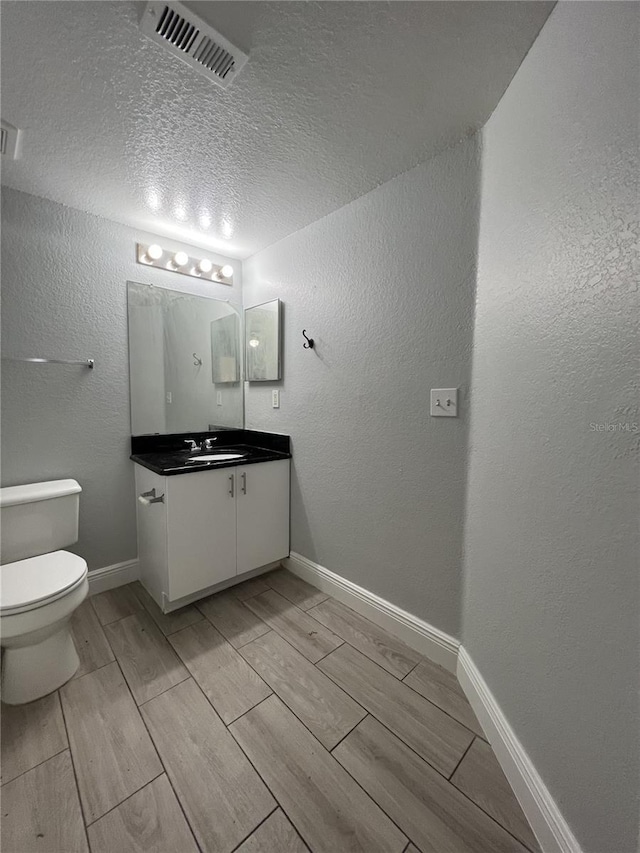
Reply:
M166 478L171 601L235 576L237 470Z

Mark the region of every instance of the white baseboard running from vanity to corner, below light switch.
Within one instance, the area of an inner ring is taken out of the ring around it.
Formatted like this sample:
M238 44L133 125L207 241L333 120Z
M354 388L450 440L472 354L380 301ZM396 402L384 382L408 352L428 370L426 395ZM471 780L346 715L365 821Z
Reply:
M420 654L451 672L456 671L459 643L454 637L300 554L292 552L282 564L294 575L395 634Z

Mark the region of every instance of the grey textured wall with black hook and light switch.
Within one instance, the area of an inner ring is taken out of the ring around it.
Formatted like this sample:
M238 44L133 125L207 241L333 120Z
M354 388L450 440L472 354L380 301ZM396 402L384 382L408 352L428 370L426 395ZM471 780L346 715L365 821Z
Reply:
M281 408L293 440L292 547L460 628L479 159L470 140L244 262L244 301L284 301ZM316 349L302 348L302 329ZM462 416L429 417L460 386Z

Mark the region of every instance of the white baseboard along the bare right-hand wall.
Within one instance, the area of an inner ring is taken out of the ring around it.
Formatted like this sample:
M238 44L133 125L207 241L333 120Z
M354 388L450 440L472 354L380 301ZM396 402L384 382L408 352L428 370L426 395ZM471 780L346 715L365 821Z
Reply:
M464 646L458 651L457 676L544 853L582 853L549 789Z

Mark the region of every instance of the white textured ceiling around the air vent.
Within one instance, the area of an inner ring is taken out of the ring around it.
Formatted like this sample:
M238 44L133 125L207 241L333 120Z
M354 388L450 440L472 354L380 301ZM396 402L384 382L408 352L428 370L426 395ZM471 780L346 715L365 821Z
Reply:
M188 5L250 54L227 90L142 4L5 0L3 183L245 257L480 127L553 3Z

